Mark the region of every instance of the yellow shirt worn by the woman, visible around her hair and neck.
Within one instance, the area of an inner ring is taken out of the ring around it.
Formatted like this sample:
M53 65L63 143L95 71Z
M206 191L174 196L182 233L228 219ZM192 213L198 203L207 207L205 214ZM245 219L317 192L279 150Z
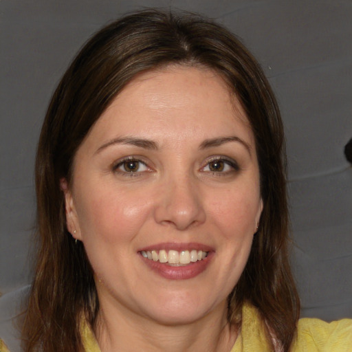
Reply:
M82 338L85 352L101 352L87 324L83 325ZM258 312L254 307L245 305L241 333L230 352L270 351ZM1 340L0 352L9 352ZM352 352L352 320L327 323L319 319L300 319L292 352Z

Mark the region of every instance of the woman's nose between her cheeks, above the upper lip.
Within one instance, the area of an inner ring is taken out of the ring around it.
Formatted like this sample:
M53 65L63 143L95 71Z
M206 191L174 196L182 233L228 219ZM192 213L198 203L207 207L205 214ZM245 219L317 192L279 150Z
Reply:
M159 201L155 207L155 221L187 230L206 220L203 199L197 181L183 177L165 182L159 188Z

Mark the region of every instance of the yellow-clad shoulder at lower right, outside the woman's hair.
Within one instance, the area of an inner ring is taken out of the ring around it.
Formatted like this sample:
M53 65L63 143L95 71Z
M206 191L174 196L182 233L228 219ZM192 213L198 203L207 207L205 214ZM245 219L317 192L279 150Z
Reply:
M334 322L312 318L300 319L294 347L294 352L351 352L352 319L342 319Z

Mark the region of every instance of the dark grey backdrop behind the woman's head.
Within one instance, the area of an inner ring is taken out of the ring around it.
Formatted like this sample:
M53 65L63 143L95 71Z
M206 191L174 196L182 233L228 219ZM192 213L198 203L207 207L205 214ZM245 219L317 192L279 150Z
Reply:
M287 133L303 316L352 318L351 0L1 0L0 292L30 282L34 154L56 83L93 32L144 6L214 17L259 59Z

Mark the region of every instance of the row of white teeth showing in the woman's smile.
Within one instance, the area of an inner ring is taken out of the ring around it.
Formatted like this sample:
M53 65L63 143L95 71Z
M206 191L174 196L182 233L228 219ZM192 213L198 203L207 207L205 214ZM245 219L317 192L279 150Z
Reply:
M209 252L202 250L142 250L140 254L144 258L151 261L158 261L159 263L166 263L172 266L188 265L190 263L196 263L197 261L202 261L206 259Z

